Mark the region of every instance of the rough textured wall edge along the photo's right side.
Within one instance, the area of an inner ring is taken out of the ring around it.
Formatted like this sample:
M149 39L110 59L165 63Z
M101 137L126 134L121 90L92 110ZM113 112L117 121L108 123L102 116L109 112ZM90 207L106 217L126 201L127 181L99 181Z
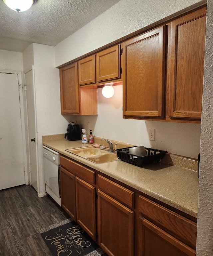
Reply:
M206 53L201 124L197 256L213 255L213 2L207 4Z

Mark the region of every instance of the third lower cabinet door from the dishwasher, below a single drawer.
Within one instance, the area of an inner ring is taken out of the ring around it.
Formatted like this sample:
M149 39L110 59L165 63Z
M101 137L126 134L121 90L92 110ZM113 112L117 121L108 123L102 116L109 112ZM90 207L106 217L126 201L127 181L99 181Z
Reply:
M134 212L98 191L99 244L109 256L134 255Z

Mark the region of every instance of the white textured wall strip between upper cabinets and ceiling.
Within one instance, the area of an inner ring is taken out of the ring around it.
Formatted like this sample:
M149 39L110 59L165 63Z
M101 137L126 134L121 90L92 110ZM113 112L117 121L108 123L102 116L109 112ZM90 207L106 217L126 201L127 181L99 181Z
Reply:
M55 47L56 66L200 3L199 0L120 0Z

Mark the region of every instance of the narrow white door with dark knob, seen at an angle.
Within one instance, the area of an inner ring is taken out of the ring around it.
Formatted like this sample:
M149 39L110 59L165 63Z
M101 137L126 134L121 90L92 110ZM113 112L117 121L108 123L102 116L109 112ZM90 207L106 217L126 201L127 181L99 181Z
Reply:
M30 184L38 192L37 178L37 136L35 119L35 91L33 83L33 70L25 73L26 102L27 102L27 123L29 140L29 164L30 164ZM34 141L35 139L35 141Z

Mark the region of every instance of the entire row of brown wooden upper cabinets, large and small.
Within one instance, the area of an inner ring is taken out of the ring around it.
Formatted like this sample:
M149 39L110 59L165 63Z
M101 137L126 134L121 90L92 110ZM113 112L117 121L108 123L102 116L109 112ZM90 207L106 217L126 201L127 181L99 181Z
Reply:
M62 114L98 114L97 87L122 81L123 118L200 123L205 30L203 7L60 68Z

